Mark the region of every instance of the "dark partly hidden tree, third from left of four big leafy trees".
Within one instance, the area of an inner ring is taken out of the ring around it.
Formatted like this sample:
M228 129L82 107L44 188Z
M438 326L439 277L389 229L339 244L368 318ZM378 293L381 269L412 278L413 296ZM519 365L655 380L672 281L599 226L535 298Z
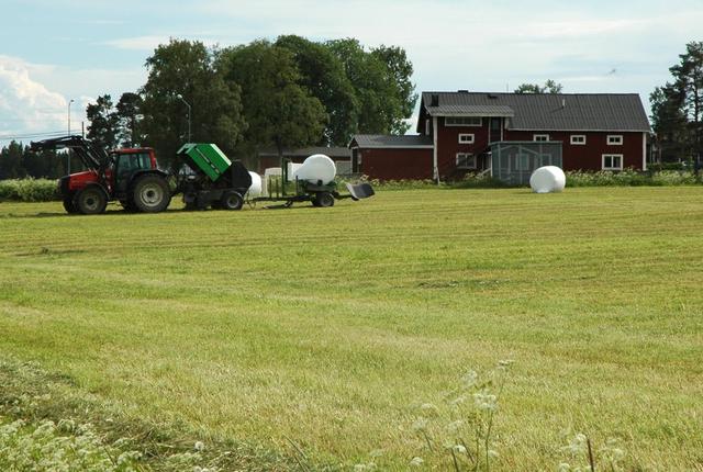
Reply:
M346 146L357 131L358 103L339 59L324 45L301 36L279 36L275 46L293 54L299 83L325 108L328 121L321 144Z

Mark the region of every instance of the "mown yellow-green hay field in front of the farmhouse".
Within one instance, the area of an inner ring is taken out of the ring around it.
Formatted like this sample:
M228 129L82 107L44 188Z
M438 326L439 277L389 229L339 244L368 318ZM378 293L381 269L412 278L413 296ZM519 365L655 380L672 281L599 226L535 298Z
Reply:
M417 405L503 359L491 470L556 470L577 431L618 439L626 470L703 470L703 188L0 203L7 420L44 392L40 416L226 446L232 470L405 470Z

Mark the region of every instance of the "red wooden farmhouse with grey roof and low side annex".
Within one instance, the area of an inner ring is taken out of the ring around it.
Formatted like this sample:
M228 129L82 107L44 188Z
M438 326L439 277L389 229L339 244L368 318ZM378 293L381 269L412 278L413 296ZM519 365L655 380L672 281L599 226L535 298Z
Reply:
M636 93L424 92L419 135L353 137L352 166L371 178L524 182L542 165L646 170L647 114Z

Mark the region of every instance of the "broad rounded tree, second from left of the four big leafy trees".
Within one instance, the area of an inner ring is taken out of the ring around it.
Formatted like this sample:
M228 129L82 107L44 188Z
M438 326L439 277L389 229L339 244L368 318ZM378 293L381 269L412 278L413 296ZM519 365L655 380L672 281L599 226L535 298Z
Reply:
M324 106L304 87L290 49L255 41L227 48L219 55L217 69L242 88L248 130L248 151L275 146L284 148L320 143L327 122Z

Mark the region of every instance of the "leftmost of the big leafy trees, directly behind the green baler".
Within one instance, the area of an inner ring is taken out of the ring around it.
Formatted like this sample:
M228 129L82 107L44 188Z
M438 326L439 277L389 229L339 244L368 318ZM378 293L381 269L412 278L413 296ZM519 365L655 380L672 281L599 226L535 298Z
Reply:
M188 138L188 109L178 94L191 106L191 141L215 143L226 154L235 150L246 128L241 89L215 69L216 56L201 42L170 40L146 59L148 79L140 90L142 144L153 146L159 159L176 164L176 151Z

